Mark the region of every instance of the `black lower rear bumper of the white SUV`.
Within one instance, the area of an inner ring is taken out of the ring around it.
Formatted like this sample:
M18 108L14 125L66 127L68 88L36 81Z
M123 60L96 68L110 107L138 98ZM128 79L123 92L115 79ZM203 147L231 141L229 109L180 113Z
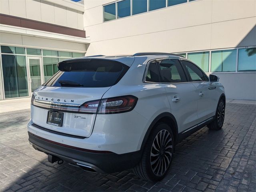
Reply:
M28 140L39 151L57 156L58 158L81 166L87 166L99 173L120 172L132 168L140 161L142 152L130 152L125 154L88 152L81 148L62 146L56 142L40 138L28 132Z

